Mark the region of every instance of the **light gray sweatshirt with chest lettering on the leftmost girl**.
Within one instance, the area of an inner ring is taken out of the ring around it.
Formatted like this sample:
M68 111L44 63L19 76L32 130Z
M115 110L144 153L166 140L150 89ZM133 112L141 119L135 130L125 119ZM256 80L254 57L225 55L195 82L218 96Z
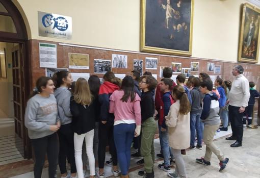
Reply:
M53 134L49 125L55 125L58 119L57 101L53 94L42 97L40 94L28 100L24 124L31 139Z

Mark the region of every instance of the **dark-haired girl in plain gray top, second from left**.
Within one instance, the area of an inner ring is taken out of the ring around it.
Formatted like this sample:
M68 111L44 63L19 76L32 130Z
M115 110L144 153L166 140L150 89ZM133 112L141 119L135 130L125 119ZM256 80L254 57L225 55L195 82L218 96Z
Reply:
M71 92L69 86L72 83L71 74L67 70L61 70L56 73L56 86L54 95L58 104L58 115L61 119L61 128L58 132L60 151L59 151L59 167L61 170L61 178L76 177L76 164L74 156L74 133L72 131L70 113L70 97ZM66 160L70 161L70 172L67 173Z

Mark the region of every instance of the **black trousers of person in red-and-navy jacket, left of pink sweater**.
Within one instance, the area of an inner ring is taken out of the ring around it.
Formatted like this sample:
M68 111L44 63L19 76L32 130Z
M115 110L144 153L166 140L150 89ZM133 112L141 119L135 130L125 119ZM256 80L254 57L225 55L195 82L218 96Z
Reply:
M106 146L109 143L109 152L112 156L113 166L117 165L117 154L114 142L114 125L107 122L106 124L99 123L98 130L98 167L104 168L106 159Z

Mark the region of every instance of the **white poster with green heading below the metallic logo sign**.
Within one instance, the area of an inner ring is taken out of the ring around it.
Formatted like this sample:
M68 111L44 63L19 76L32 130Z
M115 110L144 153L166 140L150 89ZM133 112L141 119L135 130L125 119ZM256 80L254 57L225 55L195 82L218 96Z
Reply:
M57 68L57 45L39 43L40 67Z

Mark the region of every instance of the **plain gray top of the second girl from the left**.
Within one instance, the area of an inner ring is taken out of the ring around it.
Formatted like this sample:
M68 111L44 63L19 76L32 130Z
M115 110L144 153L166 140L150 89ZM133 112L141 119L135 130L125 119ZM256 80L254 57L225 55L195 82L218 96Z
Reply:
M71 123L72 115L70 113L70 97L71 92L67 87L59 87L55 90L54 95L58 104L58 115L61 119L61 124Z

